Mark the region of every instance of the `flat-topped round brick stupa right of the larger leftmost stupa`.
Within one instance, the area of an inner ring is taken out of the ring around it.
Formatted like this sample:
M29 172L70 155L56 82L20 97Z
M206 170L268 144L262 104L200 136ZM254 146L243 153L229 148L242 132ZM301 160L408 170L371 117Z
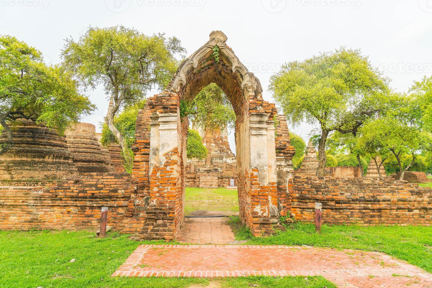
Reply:
M100 144L95 133L96 127L90 123L77 123L66 131L73 162L81 173L114 172L108 149Z

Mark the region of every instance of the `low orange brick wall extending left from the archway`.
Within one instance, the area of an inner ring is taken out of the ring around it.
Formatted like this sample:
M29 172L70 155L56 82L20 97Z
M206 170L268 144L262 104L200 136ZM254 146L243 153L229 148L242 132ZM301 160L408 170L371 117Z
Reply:
M97 229L102 206L108 225L124 219L132 191L128 174L83 174L55 187L0 187L0 229Z

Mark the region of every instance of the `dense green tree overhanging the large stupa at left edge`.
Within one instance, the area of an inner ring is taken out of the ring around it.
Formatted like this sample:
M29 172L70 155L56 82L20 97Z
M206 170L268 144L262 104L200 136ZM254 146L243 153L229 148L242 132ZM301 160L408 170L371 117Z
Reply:
M40 51L15 37L0 36L0 63L0 125L6 135L0 154L13 145L10 121L34 120L61 134L71 122L95 110L79 94L70 73L45 65Z

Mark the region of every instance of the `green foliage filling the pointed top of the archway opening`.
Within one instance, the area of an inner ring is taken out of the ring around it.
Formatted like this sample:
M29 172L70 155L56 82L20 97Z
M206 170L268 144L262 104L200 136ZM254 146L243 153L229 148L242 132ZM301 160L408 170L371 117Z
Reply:
M235 128L235 113L229 99L215 83L204 87L193 101L185 103L188 116L194 126L204 129Z

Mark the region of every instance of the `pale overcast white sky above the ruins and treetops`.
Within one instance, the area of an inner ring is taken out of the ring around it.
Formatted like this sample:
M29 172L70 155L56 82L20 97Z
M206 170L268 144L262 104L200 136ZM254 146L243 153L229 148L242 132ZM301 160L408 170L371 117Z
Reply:
M432 0L0 0L0 34L38 48L48 63L60 62L64 38L117 24L174 35L188 55L222 30L268 101L270 76L281 64L340 46L361 48L397 91L432 75ZM100 130L106 95L87 95L98 110L83 122ZM292 131L307 139L312 128Z

